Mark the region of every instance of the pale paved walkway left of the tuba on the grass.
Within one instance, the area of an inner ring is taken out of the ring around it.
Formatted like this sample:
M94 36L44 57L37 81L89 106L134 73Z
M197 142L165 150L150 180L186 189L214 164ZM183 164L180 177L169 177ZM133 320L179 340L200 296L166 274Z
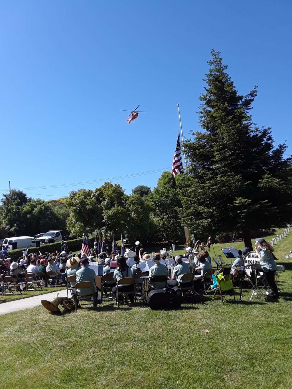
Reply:
M2 303L0 304L0 315L21 311L26 308L37 307L38 305L41 305L40 300L50 301L53 298L57 297L58 293L59 293L59 297L65 297L67 294L67 288L52 293L39 294L39 296L26 297L21 300L8 301L7 303Z

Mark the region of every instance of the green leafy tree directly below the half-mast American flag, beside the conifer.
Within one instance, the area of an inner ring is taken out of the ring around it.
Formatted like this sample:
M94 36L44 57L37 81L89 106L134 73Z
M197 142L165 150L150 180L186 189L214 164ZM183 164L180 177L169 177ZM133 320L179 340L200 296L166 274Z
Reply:
M181 242L183 228L178 215L180 198L171 172L162 173L158 179L157 187L149 196L149 202L153 209L160 238L167 242Z

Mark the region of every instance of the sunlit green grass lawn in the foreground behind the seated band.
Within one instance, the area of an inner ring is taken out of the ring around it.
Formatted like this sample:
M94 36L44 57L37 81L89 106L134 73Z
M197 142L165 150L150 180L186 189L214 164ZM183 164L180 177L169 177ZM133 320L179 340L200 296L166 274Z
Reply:
M245 290L241 302L208 296L174 311L106 301L76 314L40 306L3 315L0 387L290 388L291 249L292 233L275 247L287 269L278 301L249 303Z

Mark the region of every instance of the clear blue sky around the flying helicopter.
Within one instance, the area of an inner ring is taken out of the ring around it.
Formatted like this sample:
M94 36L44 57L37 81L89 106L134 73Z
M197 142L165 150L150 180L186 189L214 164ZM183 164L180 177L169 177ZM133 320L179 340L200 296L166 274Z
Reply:
M169 168L179 130L199 130L210 49L252 111L292 152L288 1L9 1L0 4L1 192L67 196L104 179ZM127 112L139 109L135 123ZM113 180L126 193L161 172ZM51 187L100 180L90 184Z

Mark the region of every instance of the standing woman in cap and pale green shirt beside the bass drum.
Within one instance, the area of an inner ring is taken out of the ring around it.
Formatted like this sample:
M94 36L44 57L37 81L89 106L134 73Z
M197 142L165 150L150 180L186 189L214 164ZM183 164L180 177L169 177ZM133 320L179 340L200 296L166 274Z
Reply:
M277 270L276 262L273 257L273 247L269 245L264 238L257 240L259 245L255 246L255 252L260 259L260 265L262 266L262 271L266 275L267 283L272 289L273 297L279 298L278 287L275 283L275 272Z

